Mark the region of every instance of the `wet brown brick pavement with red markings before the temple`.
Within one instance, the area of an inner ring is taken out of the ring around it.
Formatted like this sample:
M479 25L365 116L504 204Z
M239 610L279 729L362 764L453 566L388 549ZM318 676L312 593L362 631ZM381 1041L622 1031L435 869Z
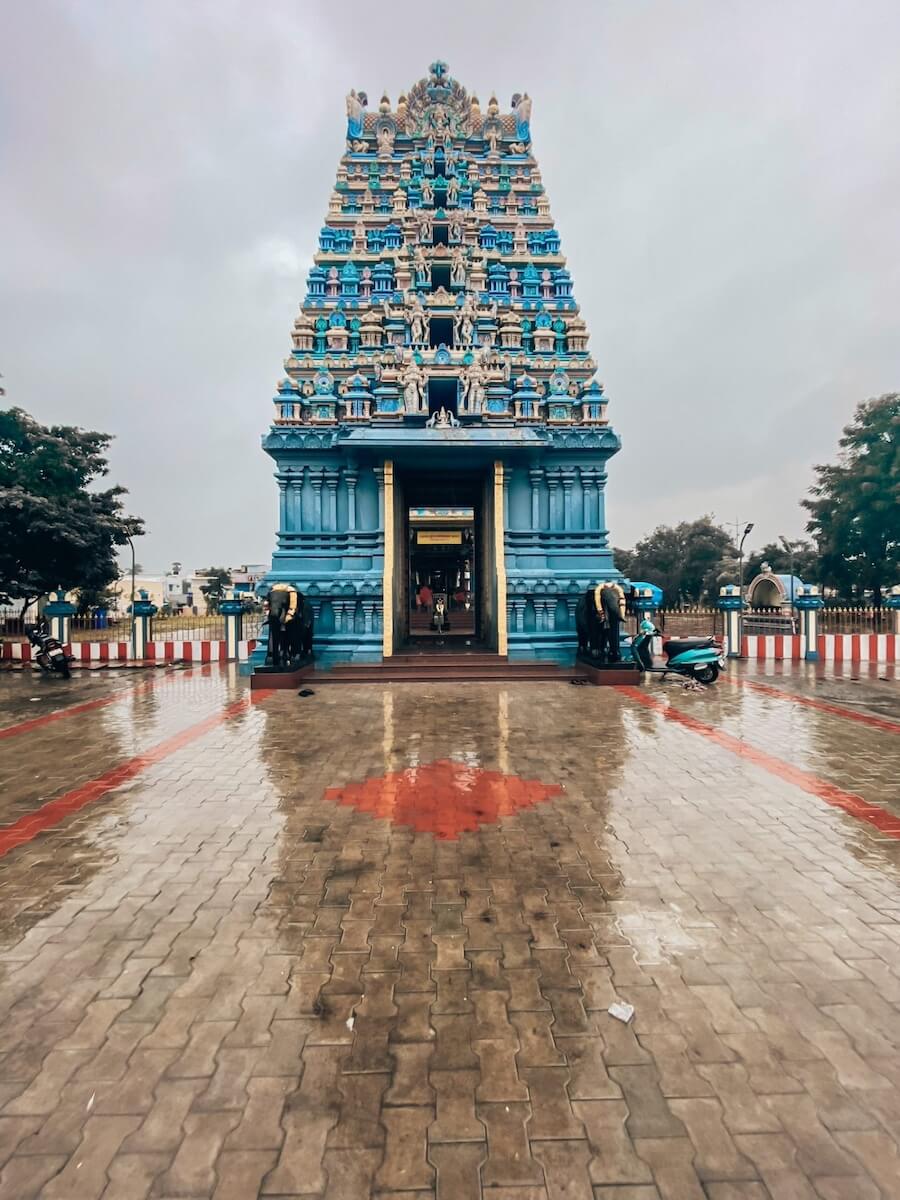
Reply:
M1 1200L900 1198L878 676L0 677Z

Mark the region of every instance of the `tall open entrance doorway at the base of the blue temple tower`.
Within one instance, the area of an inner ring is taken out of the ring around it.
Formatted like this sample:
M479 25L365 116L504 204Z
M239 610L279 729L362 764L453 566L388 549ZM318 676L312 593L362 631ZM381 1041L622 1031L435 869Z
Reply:
M493 469L397 472L397 485L395 653L497 650Z

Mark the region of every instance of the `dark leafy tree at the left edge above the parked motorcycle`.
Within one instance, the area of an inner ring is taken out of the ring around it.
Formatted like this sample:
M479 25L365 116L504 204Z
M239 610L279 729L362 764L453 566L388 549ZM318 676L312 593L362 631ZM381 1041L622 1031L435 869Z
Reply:
M0 412L0 592L26 605L54 588L100 590L118 576L116 547L144 532L124 487L96 490L112 438Z

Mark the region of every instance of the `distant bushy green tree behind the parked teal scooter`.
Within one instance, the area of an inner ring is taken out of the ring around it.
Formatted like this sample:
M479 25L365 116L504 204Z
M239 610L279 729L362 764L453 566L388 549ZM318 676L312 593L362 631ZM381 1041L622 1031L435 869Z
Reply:
M619 556L616 551L616 562L625 570ZM662 588L666 604L698 604L714 593L722 563L736 557L737 550L728 532L704 516L677 526L658 526L625 556L629 578Z

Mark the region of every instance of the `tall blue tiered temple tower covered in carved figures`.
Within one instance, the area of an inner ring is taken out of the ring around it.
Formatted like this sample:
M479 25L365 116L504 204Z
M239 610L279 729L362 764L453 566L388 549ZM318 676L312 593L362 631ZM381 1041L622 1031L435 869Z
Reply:
M425 644L437 598L449 636L571 661L577 598L620 577L605 516L620 443L532 154L532 101L511 107L482 110L444 62L396 108L347 97L263 439L281 496L268 583L308 596L324 666Z

